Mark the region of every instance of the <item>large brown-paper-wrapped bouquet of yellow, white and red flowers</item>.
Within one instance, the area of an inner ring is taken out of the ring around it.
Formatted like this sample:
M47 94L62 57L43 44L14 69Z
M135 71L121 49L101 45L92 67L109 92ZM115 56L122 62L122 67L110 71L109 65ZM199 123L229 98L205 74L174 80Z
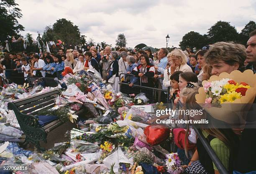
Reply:
M195 97L207 113L227 123L245 123L256 96L256 74L252 70L223 72L202 84Z

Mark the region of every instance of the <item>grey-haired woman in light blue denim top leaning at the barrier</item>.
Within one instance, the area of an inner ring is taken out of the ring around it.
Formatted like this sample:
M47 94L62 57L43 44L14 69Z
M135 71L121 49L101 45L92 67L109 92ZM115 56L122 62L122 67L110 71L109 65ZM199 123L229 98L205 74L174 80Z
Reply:
M138 64L135 63L135 58L133 56L127 56L126 61L128 63L127 71L125 73L131 74L134 68L138 66ZM132 75L125 75L126 79L130 79L129 87L132 87L133 84L139 84L138 77L132 76Z

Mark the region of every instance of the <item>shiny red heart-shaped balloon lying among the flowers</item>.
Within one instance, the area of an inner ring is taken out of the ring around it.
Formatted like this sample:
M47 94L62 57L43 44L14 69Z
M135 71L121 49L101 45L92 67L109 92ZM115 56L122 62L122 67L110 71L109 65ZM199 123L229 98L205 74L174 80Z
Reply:
M170 129L164 125L149 125L145 128L144 134L151 146L156 146L170 136Z

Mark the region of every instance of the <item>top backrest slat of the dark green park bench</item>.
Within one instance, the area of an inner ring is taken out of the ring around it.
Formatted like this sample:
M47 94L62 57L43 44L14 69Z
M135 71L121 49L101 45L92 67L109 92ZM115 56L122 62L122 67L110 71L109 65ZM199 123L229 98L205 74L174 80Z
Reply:
M27 97L25 99L13 101L13 103L18 107L18 106L21 106L21 105L25 105L25 104L40 100L42 98L46 98L46 97L54 96L54 95L58 95L58 94L59 94L59 90L54 90L54 91L51 91L51 92L48 92L48 93L43 93L43 94L39 94L39 95L32 95L32 96Z

